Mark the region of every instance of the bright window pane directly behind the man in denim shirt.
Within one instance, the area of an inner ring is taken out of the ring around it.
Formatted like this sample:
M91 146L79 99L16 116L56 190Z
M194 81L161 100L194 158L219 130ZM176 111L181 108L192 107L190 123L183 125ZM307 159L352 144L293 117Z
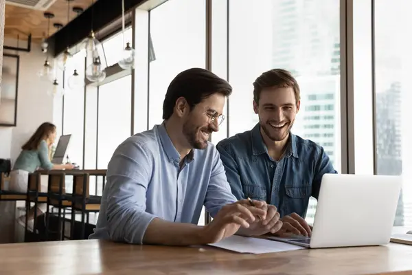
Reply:
M230 1L229 135L259 121L252 103L255 78L268 69L288 69L301 87L293 133L323 146L341 169L339 10L339 0ZM315 210L311 198L309 223Z

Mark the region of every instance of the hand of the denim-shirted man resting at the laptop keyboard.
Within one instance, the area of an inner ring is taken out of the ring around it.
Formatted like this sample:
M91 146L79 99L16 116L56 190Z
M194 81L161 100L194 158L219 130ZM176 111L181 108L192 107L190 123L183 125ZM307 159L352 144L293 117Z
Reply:
M299 214L292 213L280 219L283 223L282 228L276 232L276 236L290 236L290 234L311 236L312 228L300 217Z

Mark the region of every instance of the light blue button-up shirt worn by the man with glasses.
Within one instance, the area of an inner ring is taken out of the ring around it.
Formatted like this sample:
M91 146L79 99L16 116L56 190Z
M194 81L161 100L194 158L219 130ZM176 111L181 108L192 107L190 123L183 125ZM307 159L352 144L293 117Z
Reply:
M107 169L100 214L89 239L142 243L150 221L198 223L202 206L214 217L236 201L215 146L180 155L164 124L120 144Z

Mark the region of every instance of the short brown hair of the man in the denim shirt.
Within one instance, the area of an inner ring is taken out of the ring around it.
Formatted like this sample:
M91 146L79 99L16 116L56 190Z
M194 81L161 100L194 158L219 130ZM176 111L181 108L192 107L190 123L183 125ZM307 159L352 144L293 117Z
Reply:
M300 88L296 79L286 69L271 69L261 74L253 83L253 100L259 103L262 89L270 87L293 87L296 103L300 100Z

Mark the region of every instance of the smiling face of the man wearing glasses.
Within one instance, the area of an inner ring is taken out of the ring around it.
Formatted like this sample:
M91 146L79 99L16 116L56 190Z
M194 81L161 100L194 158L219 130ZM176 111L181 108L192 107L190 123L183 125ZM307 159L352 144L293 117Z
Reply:
M218 119L211 122L211 118L220 115L223 107L225 107L225 96L216 93L196 104L192 111L185 113L183 116L183 135L192 148L204 149L207 147L210 134L219 130Z

